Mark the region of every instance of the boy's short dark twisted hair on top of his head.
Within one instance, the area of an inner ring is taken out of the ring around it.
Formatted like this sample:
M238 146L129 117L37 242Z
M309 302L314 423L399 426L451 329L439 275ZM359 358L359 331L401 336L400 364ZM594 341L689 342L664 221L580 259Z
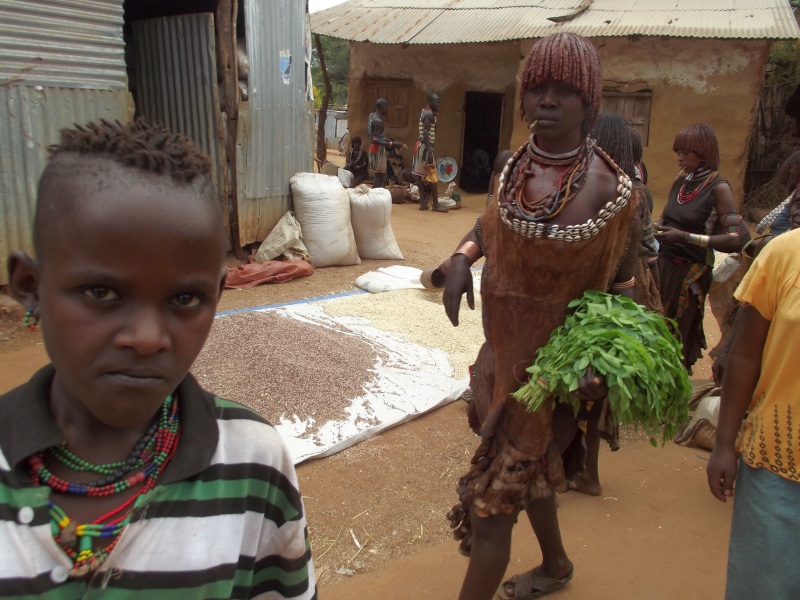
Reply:
M211 159L186 136L172 133L143 118L122 124L103 119L61 130L61 143L50 146L51 157L75 152L110 158L146 172L168 174L191 182L211 172Z

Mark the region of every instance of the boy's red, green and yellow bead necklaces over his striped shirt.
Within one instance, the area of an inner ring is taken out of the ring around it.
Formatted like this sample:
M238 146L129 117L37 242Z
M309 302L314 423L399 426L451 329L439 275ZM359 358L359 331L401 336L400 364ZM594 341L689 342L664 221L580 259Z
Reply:
M97 569L119 542L122 531L130 523L136 499L156 484L175 453L180 437L178 401L169 396L153 423L124 461L95 465L86 461L64 443L28 458L28 469L34 485L46 485L63 494L103 498L119 494L142 484L129 499L91 523L78 523L53 502L50 503L50 526L53 537L70 557L71 577L82 577ZM45 454L73 471L91 472L103 477L88 483L70 483L54 475L44 464ZM94 538L113 538L103 548L93 548Z

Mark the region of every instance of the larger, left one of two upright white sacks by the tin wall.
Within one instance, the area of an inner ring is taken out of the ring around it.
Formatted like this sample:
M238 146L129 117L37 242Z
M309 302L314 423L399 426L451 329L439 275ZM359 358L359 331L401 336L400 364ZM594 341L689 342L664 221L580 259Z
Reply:
M315 267L361 264L350 223L350 199L339 178L297 173L289 185L311 263Z

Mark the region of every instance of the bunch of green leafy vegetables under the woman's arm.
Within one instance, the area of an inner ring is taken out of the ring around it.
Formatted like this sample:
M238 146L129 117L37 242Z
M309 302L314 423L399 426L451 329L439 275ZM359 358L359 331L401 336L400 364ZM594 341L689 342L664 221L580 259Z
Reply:
M513 397L538 409L548 396L571 404L579 379L591 365L608 385L615 422L641 426L650 443L672 439L688 418L691 384L681 362L674 322L629 298L589 290L568 305L575 311L539 349L530 380Z

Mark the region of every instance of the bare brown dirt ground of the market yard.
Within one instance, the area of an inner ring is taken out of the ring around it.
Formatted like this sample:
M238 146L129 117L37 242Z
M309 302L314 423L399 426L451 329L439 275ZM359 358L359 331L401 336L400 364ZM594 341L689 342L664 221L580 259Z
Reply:
M330 151L329 158L338 159L335 154ZM411 204L393 207L392 226L404 264L434 267L453 251L480 214L485 196L462 194L462 200L464 207L448 214L420 212ZM356 277L385 264L367 260L317 269L284 284L226 291L220 310L352 290ZM21 314L0 295L0 392L27 380L47 360L41 336L15 320ZM442 327L450 327L444 310L442 317ZM706 322L713 345L716 325L711 318ZM694 378L708 377L708 359L703 359ZM477 446L465 409L457 401L298 467L322 598L458 595L467 560L451 539L445 515ZM604 447L602 495L559 496L563 537L576 576L552 597L722 597L731 504L719 503L708 492L707 456L672 442L652 448L632 430L623 432L621 451ZM540 556L523 519L515 530L508 574L535 566Z

